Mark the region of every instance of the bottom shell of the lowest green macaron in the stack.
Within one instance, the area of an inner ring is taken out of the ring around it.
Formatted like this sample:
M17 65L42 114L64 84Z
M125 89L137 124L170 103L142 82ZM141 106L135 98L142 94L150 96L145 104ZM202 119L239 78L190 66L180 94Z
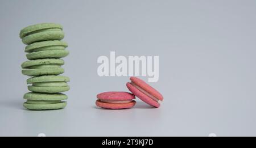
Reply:
M23 106L30 110L51 110L51 109L62 109L67 106L67 102L54 103L54 104L28 104L23 103Z

